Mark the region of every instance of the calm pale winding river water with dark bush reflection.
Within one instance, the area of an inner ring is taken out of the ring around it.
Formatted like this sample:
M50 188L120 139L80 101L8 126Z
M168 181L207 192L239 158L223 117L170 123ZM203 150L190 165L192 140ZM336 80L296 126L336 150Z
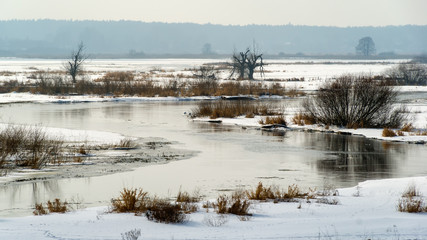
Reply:
M286 101L286 100L284 100ZM284 102L287 104L286 102ZM189 159L111 175L47 180L0 187L0 216L30 214L35 202L79 199L85 207L108 205L123 187L142 187L159 196L181 188L206 198L254 187L259 181L301 188L348 187L368 179L427 174L427 148L327 133L256 129L190 121L195 102L108 102L11 104L1 121L160 137L172 147L194 150Z

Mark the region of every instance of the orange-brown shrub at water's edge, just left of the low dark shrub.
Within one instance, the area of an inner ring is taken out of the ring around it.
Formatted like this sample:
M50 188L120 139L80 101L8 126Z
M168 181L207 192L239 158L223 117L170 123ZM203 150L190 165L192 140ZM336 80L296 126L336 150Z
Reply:
M120 192L120 197L112 199L113 212L145 212L149 199L148 193L141 188L129 189L123 188Z

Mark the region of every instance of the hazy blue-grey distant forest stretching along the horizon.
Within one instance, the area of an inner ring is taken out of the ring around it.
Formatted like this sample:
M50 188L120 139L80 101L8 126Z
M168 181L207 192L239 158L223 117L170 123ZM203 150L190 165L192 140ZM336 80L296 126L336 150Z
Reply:
M379 56L425 54L427 26L320 27L145 23L137 21L0 21L0 57L67 57L83 42L94 57L221 56L256 43L271 56L352 56L370 36Z

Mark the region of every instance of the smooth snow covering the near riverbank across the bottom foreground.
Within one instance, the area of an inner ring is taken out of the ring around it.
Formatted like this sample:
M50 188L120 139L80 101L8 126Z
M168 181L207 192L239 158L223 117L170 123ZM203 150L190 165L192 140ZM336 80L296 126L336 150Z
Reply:
M374 180L338 189L338 205L253 202L253 216L241 221L210 209L188 215L183 224L148 221L144 216L107 213L108 207L66 214L0 218L1 239L121 239L139 229L139 239L427 239L426 213L396 209L408 186L427 195L427 177ZM425 198L424 198L425 199ZM298 206L301 204L301 208Z

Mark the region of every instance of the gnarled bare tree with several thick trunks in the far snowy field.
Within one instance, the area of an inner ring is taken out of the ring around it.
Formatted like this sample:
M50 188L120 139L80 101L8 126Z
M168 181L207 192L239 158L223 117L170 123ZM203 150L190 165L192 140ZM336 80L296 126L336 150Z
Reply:
M232 56L231 62L231 74L238 75L238 79L254 79L254 72L256 68L260 68L261 76L264 74L264 62L262 54L258 54L256 49L253 51L247 48L245 52L240 52L239 54L234 53Z

